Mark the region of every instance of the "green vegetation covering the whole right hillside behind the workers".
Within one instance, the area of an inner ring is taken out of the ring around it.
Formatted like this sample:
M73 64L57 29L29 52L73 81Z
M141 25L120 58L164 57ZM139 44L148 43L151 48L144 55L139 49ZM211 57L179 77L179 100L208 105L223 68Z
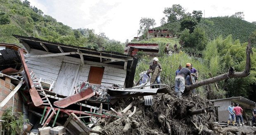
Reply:
M148 37L145 29L142 41L159 44L159 62L163 67L161 81L170 86L174 85L175 70L179 65L185 66L190 62L199 71L199 81L228 72L230 66L235 72L242 72L245 67L245 49L248 40L256 47L256 25L243 19L243 13L237 12L232 16L202 18L201 11L185 13L180 5L173 5L164 9L165 17L161 19L161 26L149 28L156 30L168 29L173 33L173 38L152 38ZM149 23L150 24L150 23ZM137 42L137 41L134 41ZM164 47L170 44L177 44L178 48L183 47L179 53L171 56L164 54ZM255 49L253 49L255 51ZM143 54L141 52L140 54ZM197 88L197 93L208 99L228 98L243 96L256 101L256 59L251 56L251 74L246 78L233 78L218 82L219 90L210 84ZM151 58L144 56L140 59L136 74L147 70ZM137 77L135 79L138 79Z

